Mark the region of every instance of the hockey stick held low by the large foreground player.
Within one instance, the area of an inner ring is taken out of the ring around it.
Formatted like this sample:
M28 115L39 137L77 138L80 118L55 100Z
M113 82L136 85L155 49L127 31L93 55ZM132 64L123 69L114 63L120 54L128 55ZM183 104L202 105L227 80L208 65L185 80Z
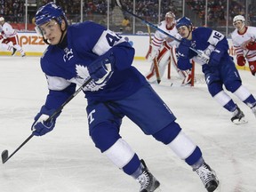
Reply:
M62 105L60 106L60 108L57 108L57 109L55 110L55 112L52 114L52 116L49 116L49 118L46 120L46 122L51 121L54 116L56 116L57 114L59 114L60 111L68 104L68 102L69 102L70 100L72 100L74 97L76 97L76 95L77 95L79 92L81 92L87 84L90 84L91 81L92 81L92 77L90 77L88 80L86 80L86 81L84 82L84 84L82 84L82 85L76 90L76 92L74 92L74 93L68 98L68 100L66 100L64 103L62 103ZM29 135L28 139L25 140L23 143L21 143L21 145L19 146L19 148L16 148L16 150L11 154L11 156L8 155L8 154L9 154L9 153L8 153L8 150L5 149L5 150L2 152L2 162L3 162L3 164L4 164L5 162L7 162L17 151L19 151L20 148L22 148L22 146L24 146L24 145L28 142L28 140L30 140L33 136L34 136L34 134L31 133L31 135Z

